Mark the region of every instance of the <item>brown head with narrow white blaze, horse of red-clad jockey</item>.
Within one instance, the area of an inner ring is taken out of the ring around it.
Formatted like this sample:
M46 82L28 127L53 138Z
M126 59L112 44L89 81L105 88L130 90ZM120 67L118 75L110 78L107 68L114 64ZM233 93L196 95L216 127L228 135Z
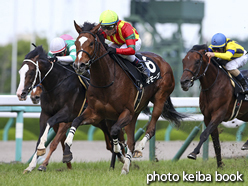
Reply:
M99 42L97 32L100 24L95 25L88 22L80 27L75 21L74 26L79 34L75 41L77 56L73 63L74 69L77 73L83 73L89 69L91 64L95 62L98 57Z

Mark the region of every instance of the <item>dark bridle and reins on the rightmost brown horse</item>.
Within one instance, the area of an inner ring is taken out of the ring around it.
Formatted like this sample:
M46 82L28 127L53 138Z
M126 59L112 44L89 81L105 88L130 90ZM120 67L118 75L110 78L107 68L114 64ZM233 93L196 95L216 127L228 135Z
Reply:
M191 79L190 79L190 87L192 87L192 86L194 85L194 81L195 81L195 80L198 80L198 79L200 79L200 78L202 78L202 77L204 77L204 76L206 75L206 72L207 72L208 67L209 67L209 65L210 65L211 58L209 58L208 64L207 64L206 68L204 69L204 72L203 72L202 74L199 75L200 70L201 70L201 66L202 66L202 62L203 62L203 55L202 55L202 53L198 52L197 50L190 50L189 52L192 52L192 53L193 53L193 52L196 52L196 53L198 53L198 54L201 56L201 58L200 58L200 65L199 65L199 67L198 67L196 73L194 73L193 71L189 70L188 68L185 68L185 69L183 70L183 72L188 71L188 72L190 72L190 73L193 75L193 76L191 77ZM215 78L214 83L213 83L209 88L207 88L207 89L202 89L201 91L209 90L209 89L215 84L215 82L216 82L216 80L217 80L217 78L218 78L218 75L219 75L219 68L218 68L218 73L217 73L217 76L216 76L216 78Z

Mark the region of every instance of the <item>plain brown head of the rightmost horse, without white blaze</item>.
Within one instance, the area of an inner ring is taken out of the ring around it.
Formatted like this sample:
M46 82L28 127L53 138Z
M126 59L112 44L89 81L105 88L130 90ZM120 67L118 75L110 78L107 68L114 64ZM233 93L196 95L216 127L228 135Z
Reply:
M209 59L205 55L207 48L207 45L195 45L182 60L183 74L180 83L184 91L188 91L195 80L205 76L209 66Z

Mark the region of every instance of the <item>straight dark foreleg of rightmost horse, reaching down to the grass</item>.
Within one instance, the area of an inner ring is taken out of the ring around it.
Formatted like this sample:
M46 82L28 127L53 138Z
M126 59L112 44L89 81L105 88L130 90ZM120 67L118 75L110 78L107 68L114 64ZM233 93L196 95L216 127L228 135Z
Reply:
M217 166L222 167L224 163L221 160L221 148L220 148L219 132L217 128L211 133L211 137L214 144Z

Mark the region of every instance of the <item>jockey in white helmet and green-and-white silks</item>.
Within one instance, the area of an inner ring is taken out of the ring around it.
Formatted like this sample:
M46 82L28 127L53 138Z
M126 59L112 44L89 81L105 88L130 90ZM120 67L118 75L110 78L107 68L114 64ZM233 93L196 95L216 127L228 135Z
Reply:
M75 41L64 40L61 37L56 37L51 41L48 57L50 57L53 62L59 61L62 65L69 65L76 59Z

